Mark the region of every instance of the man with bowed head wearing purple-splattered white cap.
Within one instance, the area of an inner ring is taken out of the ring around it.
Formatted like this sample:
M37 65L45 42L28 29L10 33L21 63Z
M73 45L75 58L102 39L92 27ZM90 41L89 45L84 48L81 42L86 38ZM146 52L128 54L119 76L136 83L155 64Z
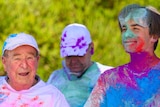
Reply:
M48 83L61 90L71 107L83 107L99 75L112 67L91 61L94 46L82 24L64 28L60 48L63 68L53 71Z

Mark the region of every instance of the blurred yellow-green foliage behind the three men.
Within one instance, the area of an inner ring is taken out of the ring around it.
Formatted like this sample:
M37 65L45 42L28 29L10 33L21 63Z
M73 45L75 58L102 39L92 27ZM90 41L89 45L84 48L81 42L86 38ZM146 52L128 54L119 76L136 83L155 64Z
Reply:
M61 68L59 45L63 28L70 23L87 26L94 41L92 60L109 66L129 61L121 44L117 16L131 3L160 10L160 0L0 0L0 49L9 34L33 35L40 48L38 75L46 81ZM159 44L160 45L160 44ZM156 53L160 56L160 46ZM0 64L0 75L4 75Z

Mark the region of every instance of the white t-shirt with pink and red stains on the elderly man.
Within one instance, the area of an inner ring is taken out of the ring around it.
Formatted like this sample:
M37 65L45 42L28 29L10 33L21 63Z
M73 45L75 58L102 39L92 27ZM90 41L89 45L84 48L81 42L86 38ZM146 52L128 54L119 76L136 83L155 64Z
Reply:
M16 91L0 77L0 107L69 107L63 94L39 79L28 90Z

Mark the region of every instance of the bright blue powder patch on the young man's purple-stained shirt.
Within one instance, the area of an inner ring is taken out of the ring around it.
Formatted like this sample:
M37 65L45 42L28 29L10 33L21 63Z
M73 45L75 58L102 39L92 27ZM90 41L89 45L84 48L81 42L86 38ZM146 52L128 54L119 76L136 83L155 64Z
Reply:
M160 88L160 71L152 70L147 77L135 78L138 88L118 83L110 86L100 107L143 107Z

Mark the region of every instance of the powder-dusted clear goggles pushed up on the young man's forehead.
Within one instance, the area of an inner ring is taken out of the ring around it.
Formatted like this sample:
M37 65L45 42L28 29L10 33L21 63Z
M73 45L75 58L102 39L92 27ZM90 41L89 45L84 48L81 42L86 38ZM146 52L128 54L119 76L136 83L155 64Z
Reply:
M125 26L128 21L133 20L136 24L143 26L143 27L148 27L148 12L145 8L137 8L124 17L124 18L119 18L120 25Z

